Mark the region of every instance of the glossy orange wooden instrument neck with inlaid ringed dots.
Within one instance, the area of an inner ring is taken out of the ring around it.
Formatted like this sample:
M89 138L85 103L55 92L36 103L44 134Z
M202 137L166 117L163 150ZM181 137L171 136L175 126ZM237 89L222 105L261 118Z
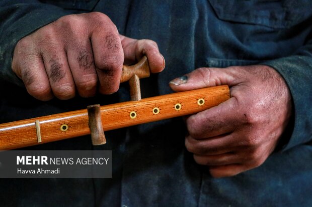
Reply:
M103 130L113 130L177 116L194 114L229 99L228 86L216 86L101 106ZM87 109L0 124L0 150L90 134ZM109 141L109 140L108 140Z

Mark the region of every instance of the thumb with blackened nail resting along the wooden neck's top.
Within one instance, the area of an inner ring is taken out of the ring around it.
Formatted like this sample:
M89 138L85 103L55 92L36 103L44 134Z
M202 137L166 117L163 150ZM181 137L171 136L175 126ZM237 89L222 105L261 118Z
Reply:
M235 78L228 68L198 68L191 73L169 82L174 91L189 91L199 88L235 85Z

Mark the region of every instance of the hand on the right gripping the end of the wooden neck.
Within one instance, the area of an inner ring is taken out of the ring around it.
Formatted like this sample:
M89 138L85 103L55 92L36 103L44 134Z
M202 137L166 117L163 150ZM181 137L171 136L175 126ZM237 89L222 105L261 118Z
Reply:
M185 145L213 177L261 165L275 149L291 115L284 79L268 66L199 68L171 81L175 91L227 84L231 98L186 119ZM209 97L207 97L209 99Z

